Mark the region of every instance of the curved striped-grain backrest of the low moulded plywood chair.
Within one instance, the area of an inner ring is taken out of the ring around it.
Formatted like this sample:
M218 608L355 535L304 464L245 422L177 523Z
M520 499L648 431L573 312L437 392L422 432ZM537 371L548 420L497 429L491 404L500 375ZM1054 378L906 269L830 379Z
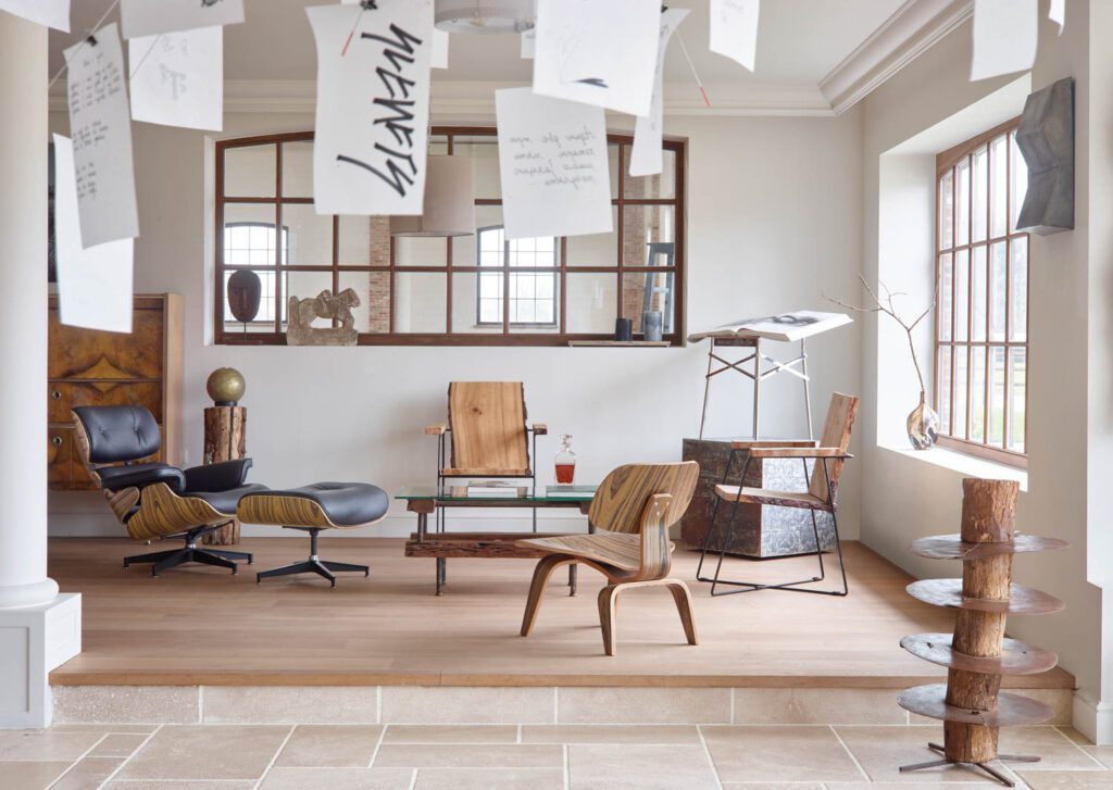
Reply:
M695 461L619 466L600 483L588 519L597 530L638 532L649 498L653 494L671 494L672 501L662 520L669 527L688 510L698 480L699 464Z

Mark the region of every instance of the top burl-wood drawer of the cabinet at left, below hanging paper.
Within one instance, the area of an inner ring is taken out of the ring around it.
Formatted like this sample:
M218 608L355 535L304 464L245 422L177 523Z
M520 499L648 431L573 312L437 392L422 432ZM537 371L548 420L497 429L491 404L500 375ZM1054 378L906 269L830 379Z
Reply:
M164 312L137 309L131 334L65 326L50 310L49 378L161 378Z

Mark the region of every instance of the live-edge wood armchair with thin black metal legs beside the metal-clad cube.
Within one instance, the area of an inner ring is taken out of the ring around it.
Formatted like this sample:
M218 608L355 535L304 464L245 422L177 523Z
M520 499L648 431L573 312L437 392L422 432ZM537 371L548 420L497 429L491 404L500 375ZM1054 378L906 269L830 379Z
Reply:
M838 481L843 474L843 465L848 458L847 447L850 445L850 431L854 427L854 419L858 414L859 399L853 395L834 393L830 406L827 409L827 419L824 423L823 438L818 446L799 446L802 442L792 442L792 446L775 447L770 442L748 442L736 441L732 443L730 456L727 460L727 468L723 472L722 483L715 487L715 507L711 511L711 526L707 531L703 540L703 547L700 552L699 565L696 570L696 577L701 582L711 583L712 595L730 595L733 593L754 592L756 590L784 590L786 592L804 592L817 595L844 596L849 592L846 581L846 565L843 562L843 546L838 534ZM787 443L786 443L787 444ZM810 443L816 445L816 443ZM739 485L728 485L730 468L735 462L735 456L740 452L747 452L746 463L742 465L742 474L739 477ZM760 458L800 458L804 464L805 477L808 480L808 490L804 492L770 491L768 488L750 488L743 485L746 473L749 471L750 462ZM808 461L812 462L812 467L808 470ZM718 543L719 560L716 563L715 575L707 577L703 575L703 561L709 553L712 537L716 535L717 516L719 515L719 504L731 503L730 517L727 521L725 540ZM811 531L816 540L815 555L819 561L819 575L809 579L801 579L795 582L782 582L780 584L762 584L758 582L733 581L721 577L722 557L727 554L726 546L729 545L730 531L735 525L735 515L738 512L739 503L750 503L761 506L779 507L802 507L811 512ZM829 513L831 525L835 531L835 551L838 554L839 571L843 576L840 590L816 590L815 587L804 587L801 584L821 582L826 579L824 569L824 550L819 540L819 525L816 513ZM719 585L737 587L730 590L719 590Z

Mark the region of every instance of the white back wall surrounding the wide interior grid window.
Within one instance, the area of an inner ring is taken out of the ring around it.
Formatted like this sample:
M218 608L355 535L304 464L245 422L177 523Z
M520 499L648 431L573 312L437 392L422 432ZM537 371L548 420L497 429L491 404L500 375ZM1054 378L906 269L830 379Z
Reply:
M490 121L489 121L490 122ZM65 129L65 113L52 124ZM293 131L309 116L243 115L226 135ZM824 309L821 293L850 294L861 256L861 126L838 119L669 119L667 132L689 138L688 282L690 329L771 310ZM582 480L617 464L677 460L699 429L705 345L664 349L540 347L293 348L207 346L205 305L211 289L211 199L206 194L205 136L145 124L135 127L141 236L136 289L186 297L185 446L197 463L205 379L221 365L247 379L252 478L270 486L319 480L372 481L387 490L429 483L433 440L452 379L522 379L531 418L570 433ZM613 299L613 296L610 297ZM613 323L611 323L611 327ZM809 346L814 416L831 391L858 392L859 325ZM787 348L779 350L788 352ZM769 435L806 433L796 379L764 391ZM710 435L742 434L749 391L720 377ZM551 482L555 437L542 438L538 468ZM857 535L858 470L840 490L847 536ZM52 534L122 534L97 494L50 497ZM368 534L401 535L412 517L396 508Z

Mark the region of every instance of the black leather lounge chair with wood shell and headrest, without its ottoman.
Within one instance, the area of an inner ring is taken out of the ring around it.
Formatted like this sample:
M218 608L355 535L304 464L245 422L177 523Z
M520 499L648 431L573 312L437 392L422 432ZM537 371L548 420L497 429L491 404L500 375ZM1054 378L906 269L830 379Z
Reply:
M245 495L266 486L245 484L250 458L180 470L162 463L137 463L156 454L161 436L155 417L142 406L73 408L77 443L89 473L100 484L116 517L137 541L180 537L181 549L125 557L151 563L150 574L186 562L218 565L236 573L246 552L201 549L197 540L236 517ZM122 465L120 465L122 463Z

